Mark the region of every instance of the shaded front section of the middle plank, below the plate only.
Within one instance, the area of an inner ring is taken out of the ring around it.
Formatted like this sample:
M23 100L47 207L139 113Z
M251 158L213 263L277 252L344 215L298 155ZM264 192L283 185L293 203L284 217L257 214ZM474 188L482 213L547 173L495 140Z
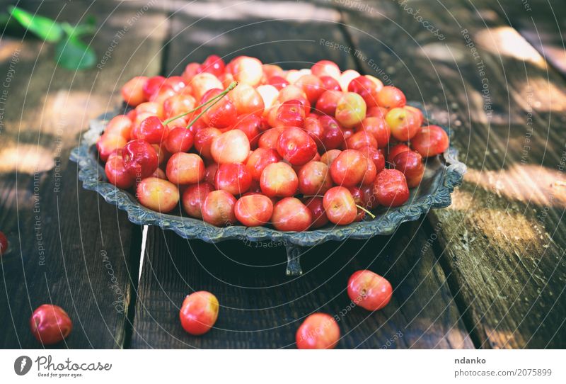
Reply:
M296 329L312 312L339 320L340 348L473 348L419 223L393 237L308 249L298 278L285 276L281 244L211 246L161 230L150 230L147 244L134 348L294 347ZM383 310L349 307L347 281L359 269L379 271L395 287ZM195 290L212 291L221 303L215 329L202 337L185 333L178 317Z

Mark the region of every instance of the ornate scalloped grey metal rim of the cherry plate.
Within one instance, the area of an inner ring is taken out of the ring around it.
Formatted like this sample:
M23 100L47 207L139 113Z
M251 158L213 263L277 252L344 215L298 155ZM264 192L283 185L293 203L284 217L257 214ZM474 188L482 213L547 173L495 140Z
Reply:
M423 111L417 103L411 103ZM423 111L424 113L424 111ZM437 124L428 120L429 124ZM445 208L451 204L450 193L461 185L466 166L458 162L458 151L453 147L437 157L427 159L426 170L420 186L410 191L407 203L396 208L376 208L376 218L354 222L345 226L328 226L305 232L281 232L271 227L214 227L202 220L183 216L177 208L173 213L158 213L140 205L129 191L108 183L104 167L98 162L96 140L108 123L108 114L91 120L90 128L81 138L81 145L71 152L71 160L79 165L79 179L83 188L96 191L108 203L125 210L130 221L138 225L158 225L164 230L173 230L185 239L201 239L205 242L220 242L229 239L247 239L253 242L287 242L310 247L328 240L367 239L375 235L390 235L402 222L417 220L431 208ZM439 124L437 124L439 125ZM446 132L448 130L442 127Z

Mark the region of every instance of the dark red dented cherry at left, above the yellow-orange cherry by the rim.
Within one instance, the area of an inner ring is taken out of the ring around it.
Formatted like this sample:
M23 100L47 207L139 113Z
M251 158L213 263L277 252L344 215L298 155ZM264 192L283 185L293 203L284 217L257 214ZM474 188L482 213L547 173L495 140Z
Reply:
M158 157L154 147L144 140L132 140L122 149L124 166L137 180L145 179L157 169Z

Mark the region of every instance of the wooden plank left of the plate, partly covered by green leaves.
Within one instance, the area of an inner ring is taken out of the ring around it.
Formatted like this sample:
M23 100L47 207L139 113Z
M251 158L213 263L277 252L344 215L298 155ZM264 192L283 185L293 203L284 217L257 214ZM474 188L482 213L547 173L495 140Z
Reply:
M50 1L37 11L70 23L95 15L100 30L91 43L102 60L128 18L145 4ZM37 3L21 6L35 11ZM164 19L160 10L148 9L117 39L100 70L76 73L55 67L52 45L32 37L2 39L1 74L8 73L13 52L19 52L0 149L0 228L11 241L1 263L3 348L40 347L28 319L43 303L62 306L74 321L71 335L56 347L124 344L140 230L96 193L84 191L76 164L68 159L88 120L119 105L117 84L134 74L157 72Z

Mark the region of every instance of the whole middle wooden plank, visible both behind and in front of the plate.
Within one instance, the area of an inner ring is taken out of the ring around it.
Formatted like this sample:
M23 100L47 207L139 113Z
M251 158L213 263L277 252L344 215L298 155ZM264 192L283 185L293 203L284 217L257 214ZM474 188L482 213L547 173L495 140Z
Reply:
M224 3L178 10L165 72L178 73L187 62L201 62L211 53L226 53L228 59L257 56L289 69L321 59L354 67L351 55L320 44L321 38L348 44L337 24L340 15L328 4L265 4L221 12ZM269 20L275 16L279 20ZM301 256L304 275L288 278L282 244L187 242L150 227L132 347L294 347L301 320L323 311L340 319L341 348L473 348L427 239L416 222L393 237L321 244ZM383 274L395 287L392 302L373 314L348 309L347 280L364 268ZM202 337L186 334L178 320L183 298L195 290L210 290L221 303L216 329Z

